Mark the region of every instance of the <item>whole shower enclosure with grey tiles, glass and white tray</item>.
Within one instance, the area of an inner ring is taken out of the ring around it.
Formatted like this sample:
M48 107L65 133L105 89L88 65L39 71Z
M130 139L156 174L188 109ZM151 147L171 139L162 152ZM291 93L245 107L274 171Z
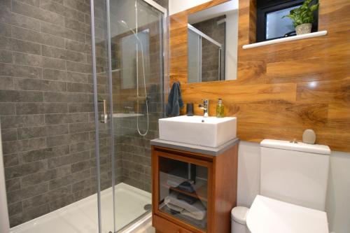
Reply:
M0 196L10 232L132 229L151 213L166 8L6 0L0 19Z

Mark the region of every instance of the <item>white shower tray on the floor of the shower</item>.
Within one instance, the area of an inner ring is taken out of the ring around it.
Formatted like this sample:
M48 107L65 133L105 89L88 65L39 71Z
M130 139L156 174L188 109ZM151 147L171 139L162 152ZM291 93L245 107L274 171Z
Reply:
M151 193L139 190L125 183L116 185L116 228L120 230L146 213L144 206L151 204ZM112 188L101 192L102 232L113 231ZM92 195L13 227L10 233L96 233L97 195Z

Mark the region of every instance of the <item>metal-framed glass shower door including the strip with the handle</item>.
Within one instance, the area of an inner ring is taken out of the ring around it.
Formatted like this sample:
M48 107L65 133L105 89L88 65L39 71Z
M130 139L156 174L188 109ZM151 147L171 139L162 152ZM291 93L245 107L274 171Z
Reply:
M164 117L165 15L151 0L94 0L100 232L151 211L151 146ZM103 84L103 87L102 87Z

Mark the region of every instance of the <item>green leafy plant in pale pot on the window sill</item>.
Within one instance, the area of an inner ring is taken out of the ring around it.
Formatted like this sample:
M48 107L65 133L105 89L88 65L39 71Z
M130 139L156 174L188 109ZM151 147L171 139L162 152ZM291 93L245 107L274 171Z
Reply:
M314 11L318 9L319 3L311 3L313 0L306 0L302 3L302 6L290 10L289 15L283 17L289 17L293 20L293 25L297 35L307 34L311 32L312 23L314 22Z

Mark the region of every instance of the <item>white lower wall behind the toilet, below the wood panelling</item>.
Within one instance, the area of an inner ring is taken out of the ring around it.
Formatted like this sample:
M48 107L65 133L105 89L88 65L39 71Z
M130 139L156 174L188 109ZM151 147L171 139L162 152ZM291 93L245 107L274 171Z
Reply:
M259 143L241 141L238 161L239 206L250 207L260 186ZM326 212L330 230L335 233L350 232L350 153L334 151L330 156L330 174Z

